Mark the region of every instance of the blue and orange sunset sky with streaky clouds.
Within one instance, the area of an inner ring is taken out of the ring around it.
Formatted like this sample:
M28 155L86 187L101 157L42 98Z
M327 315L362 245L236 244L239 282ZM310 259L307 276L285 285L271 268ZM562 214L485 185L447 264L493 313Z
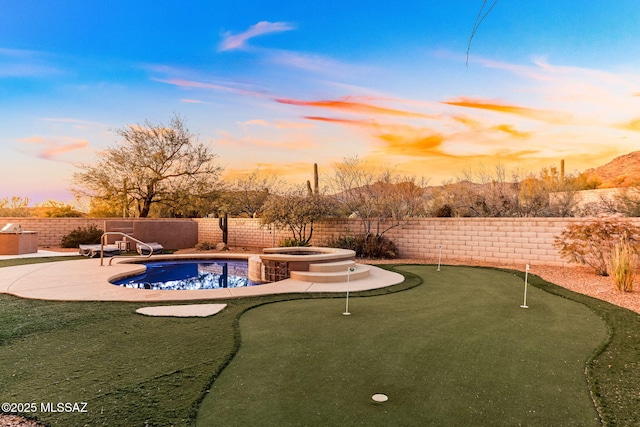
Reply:
M485 11L493 3L487 0ZM345 157L430 180L640 150L637 0L0 0L0 198L69 201L180 114L234 177Z

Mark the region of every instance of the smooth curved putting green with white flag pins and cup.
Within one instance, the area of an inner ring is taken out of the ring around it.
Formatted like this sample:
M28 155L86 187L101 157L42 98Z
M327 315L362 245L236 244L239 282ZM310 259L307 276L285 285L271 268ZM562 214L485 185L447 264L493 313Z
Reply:
M406 266L416 288L267 305L198 425L597 426L585 364L606 340L582 304L492 269ZM375 403L376 393L389 396Z

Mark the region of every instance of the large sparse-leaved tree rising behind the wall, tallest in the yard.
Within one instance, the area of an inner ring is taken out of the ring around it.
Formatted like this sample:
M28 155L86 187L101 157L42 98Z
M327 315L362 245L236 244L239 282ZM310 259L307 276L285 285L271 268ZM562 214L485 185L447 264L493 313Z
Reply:
M222 168L179 115L168 126L146 121L116 132L122 137L116 146L79 166L76 195L116 205L123 216L146 217L154 204L175 210L214 193Z

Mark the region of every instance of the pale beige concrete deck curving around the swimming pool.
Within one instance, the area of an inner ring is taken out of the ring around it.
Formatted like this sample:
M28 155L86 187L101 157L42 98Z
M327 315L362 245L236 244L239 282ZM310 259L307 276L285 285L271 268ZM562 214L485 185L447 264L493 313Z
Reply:
M189 256L193 258L193 255ZM153 257L152 257L153 258ZM180 256L176 256L180 258ZM300 292L346 292L347 282L311 283L287 279L245 288L157 291L112 285L109 279L140 271L136 264L100 266L99 259L68 260L0 268L0 293L52 301L195 301ZM398 273L369 266L367 278L349 282L349 291L377 289L401 283Z

